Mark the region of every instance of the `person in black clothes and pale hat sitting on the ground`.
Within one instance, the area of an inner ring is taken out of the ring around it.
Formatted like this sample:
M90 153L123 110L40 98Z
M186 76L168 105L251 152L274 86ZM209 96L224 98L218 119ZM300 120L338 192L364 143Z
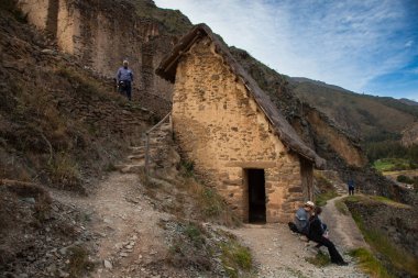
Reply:
M309 241L316 242L320 245L323 245L328 248L328 253L331 257L331 263L337 264L339 266L346 266L348 264L341 257L340 253L337 251L336 245L324 236L324 230L322 226L322 222L319 219L322 209L317 208L315 215L309 220ZM318 246L318 245L317 245Z

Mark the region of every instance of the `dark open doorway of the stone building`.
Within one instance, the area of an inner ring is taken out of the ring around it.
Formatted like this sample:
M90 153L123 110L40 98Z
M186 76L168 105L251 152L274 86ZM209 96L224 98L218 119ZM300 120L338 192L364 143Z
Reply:
M265 223L264 169L246 169L249 182L249 221Z

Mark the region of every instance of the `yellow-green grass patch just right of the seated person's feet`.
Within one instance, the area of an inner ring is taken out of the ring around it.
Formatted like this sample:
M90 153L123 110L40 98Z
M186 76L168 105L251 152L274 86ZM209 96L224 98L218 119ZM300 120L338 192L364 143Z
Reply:
M361 269L371 277L378 278L392 278L393 276L387 273L382 263L376 259L373 254L365 248L356 248L351 251L350 256L355 257L359 260Z

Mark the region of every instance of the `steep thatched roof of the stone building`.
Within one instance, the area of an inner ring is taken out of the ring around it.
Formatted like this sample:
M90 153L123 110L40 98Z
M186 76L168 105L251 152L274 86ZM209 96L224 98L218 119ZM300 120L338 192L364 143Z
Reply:
M199 38L208 36L215 44L216 52L221 55L224 62L230 66L231 70L245 85L249 92L253 96L260 109L267 116L273 125L275 134L290 149L298 153L302 157L314 162L317 167L324 166L324 159L319 157L311 148L309 148L297 135L294 127L287 122L285 116L278 111L270 97L258 87L256 81L243 69L243 67L232 57L228 46L216 35L206 24L198 24L189 33L187 33L177 45L174 46L172 53L167 55L158 68L156 74L164 79L174 82L176 79L176 69L182 55L186 53L195 42Z

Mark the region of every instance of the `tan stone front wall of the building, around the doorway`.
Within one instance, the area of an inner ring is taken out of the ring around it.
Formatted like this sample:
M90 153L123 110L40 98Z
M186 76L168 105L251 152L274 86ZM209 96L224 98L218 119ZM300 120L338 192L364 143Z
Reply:
M245 170L265 170L266 221L288 221L304 201L300 162L209 38L184 55L173 98L175 136L196 171L248 221Z

